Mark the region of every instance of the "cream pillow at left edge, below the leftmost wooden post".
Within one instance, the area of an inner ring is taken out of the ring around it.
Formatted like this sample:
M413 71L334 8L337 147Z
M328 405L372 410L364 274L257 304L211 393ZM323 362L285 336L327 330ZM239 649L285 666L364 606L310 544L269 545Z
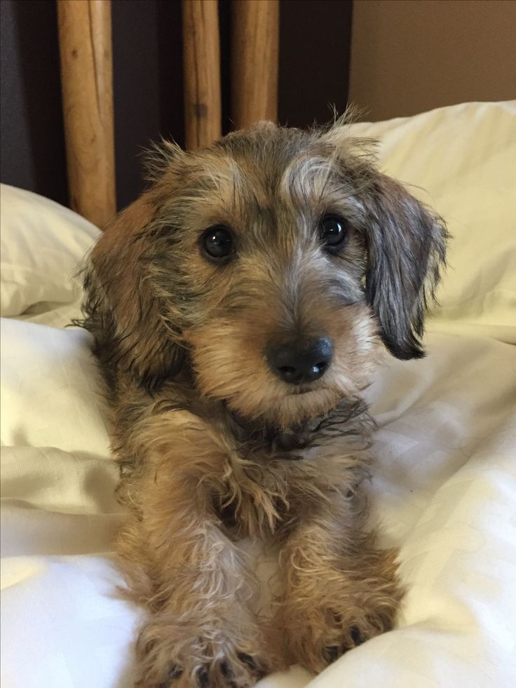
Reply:
M100 230L31 191L1 184L0 194L1 316L71 304L80 295L74 275Z

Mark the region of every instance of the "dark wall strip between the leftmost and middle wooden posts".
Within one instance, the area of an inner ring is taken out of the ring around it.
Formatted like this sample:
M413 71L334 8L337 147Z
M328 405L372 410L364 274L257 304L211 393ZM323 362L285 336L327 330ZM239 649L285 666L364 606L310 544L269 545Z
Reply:
M181 3L114 0L113 83L118 208L140 194L142 152L172 137L184 144Z

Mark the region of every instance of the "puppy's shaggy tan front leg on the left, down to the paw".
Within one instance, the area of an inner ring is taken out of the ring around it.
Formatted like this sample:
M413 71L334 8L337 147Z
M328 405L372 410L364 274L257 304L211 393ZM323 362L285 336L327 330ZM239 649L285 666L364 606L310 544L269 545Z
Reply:
M118 538L133 597L148 609L137 641L137 685L251 686L269 670L249 608L254 576L220 530L210 481L203 480L215 479L212 455L182 448L179 454L175 443L165 456L147 457L128 493L137 509Z

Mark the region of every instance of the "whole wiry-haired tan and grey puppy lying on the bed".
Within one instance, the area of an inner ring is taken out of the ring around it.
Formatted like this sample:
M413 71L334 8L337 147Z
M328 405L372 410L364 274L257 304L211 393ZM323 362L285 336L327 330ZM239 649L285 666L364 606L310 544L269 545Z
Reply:
M147 609L136 682L318 672L400 604L395 552L360 507L360 394L382 344L423 356L446 231L344 121L260 123L151 157L149 189L90 256L84 321L130 507L118 553ZM268 621L245 538L279 553Z

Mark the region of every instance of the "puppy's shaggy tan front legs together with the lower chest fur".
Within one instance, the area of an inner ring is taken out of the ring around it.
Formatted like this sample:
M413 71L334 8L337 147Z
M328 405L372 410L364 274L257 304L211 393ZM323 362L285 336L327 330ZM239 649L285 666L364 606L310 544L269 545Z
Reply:
M375 548L355 505L369 463L362 430L290 464L243 459L234 440L184 411L135 426L130 442L146 462L125 482L135 515L118 553L131 596L152 612L137 645L142 686L176 665L184 685L200 668L225 685L224 662L238 686L291 662L319 671L354 647L352 628L362 639L391 628L401 598L394 553ZM280 543L284 593L272 626L249 604L257 581L238 547L249 536ZM278 630L287 631L280 645Z

